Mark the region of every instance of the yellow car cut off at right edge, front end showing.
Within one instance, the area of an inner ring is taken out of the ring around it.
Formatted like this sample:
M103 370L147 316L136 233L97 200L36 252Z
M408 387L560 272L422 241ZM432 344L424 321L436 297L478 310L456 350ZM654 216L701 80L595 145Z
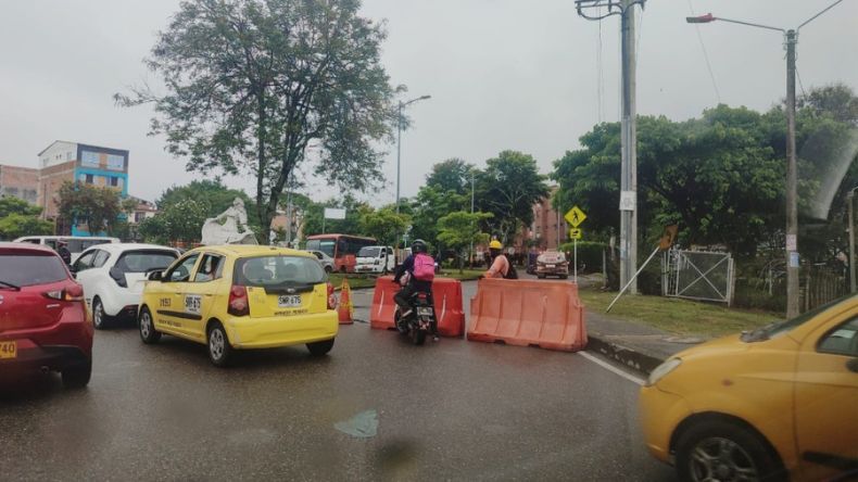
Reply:
M682 481L858 478L858 296L679 353L639 408Z

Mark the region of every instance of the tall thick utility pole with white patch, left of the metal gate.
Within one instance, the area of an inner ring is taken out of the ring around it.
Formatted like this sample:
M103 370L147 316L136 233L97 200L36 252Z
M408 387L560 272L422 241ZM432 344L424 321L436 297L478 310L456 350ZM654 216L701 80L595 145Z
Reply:
M620 287L629 281L629 292L638 293L638 107L635 102L636 54L634 49L634 5L643 9L646 0L576 0L578 14L600 21L620 15L622 55L622 117L620 119ZM585 10L596 14L586 14ZM603 12L607 9L607 12Z

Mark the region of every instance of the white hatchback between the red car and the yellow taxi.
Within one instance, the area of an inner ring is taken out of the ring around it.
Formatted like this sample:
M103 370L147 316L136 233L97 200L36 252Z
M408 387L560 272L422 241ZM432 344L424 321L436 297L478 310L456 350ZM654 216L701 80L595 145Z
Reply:
M114 317L137 316L147 274L173 264L179 252L155 244L99 244L72 264L84 297L92 310L92 325L104 328Z

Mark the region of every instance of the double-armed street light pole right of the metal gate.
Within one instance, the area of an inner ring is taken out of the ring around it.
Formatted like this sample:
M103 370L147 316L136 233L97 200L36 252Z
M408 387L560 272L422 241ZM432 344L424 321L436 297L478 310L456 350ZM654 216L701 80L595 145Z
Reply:
M797 178L797 163L795 157L795 47L798 43L798 30L805 25L809 24L823 13L828 12L837 3L843 0L837 0L830 4L816 15L811 16L805 23L795 29L784 29L779 27L771 27L768 25L760 25L750 22L736 21L730 18L716 17L711 13L701 16L685 17L685 22L690 24L708 24L715 21L728 22L731 24L740 24L749 27L765 28L767 30L777 30L785 36L786 43L786 238L784 242L784 252L786 255L786 317L793 318L798 316L798 267L800 261L798 257L798 182ZM851 205L850 205L851 207ZM850 219L851 221L851 219ZM849 231L851 236L851 230ZM851 265L851 258L849 263ZM855 277L853 276L853 279ZM853 281L854 283L854 281ZM854 287L854 286L853 286ZM853 288L854 290L854 288Z

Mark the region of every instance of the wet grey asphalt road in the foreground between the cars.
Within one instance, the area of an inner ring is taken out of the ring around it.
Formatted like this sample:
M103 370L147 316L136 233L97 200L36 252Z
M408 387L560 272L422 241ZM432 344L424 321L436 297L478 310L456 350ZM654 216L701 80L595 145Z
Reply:
M638 385L576 354L416 347L365 324L327 357L239 352L229 369L131 327L94 350L85 390L0 382L0 480L673 480L643 446ZM367 410L375 436L335 428Z

